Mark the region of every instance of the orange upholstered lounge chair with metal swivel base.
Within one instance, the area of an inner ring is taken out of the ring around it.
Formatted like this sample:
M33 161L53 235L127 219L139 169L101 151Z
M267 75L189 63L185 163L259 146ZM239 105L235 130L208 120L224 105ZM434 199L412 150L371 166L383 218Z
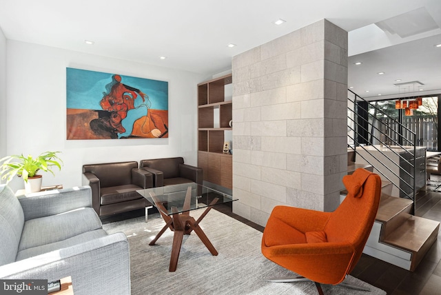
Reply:
M359 168L344 176L343 183L348 194L334 212L274 207L263 232L262 253L300 276L268 281L314 281L323 294L320 283L340 284L352 271L376 218L381 179Z

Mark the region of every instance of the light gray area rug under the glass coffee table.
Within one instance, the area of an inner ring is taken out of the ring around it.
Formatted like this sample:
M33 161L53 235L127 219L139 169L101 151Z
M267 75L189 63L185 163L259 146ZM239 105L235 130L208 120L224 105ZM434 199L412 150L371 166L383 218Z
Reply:
M203 210L190 214L197 219ZM269 261L260 252L262 233L223 213L211 210L201 221L218 256L212 256L198 236L184 236L176 272L169 272L173 232L148 245L165 222L159 214L103 225L109 233L124 232L130 245L132 294L318 294L312 282L268 283L267 278L296 275ZM325 294L380 295L386 292L348 276L347 283L371 292L322 285Z

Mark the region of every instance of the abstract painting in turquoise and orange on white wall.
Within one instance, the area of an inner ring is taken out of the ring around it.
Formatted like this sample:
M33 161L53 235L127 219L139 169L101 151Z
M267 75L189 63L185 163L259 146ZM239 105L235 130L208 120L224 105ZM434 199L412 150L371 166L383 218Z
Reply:
M66 68L67 139L168 137L168 82Z

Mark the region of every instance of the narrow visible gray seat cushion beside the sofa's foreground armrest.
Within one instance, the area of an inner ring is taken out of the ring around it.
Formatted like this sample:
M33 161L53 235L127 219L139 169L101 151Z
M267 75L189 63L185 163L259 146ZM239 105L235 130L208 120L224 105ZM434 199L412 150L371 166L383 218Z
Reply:
M60 250L65 247L79 245L81 243L85 243L85 242L94 240L95 238L101 238L102 236L107 236L107 232L105 232L105 230L102 230L102 229L101 230L92 230L92 232L85 232L83 234L79 234L78 236L72 236L72 238L67 238L63 241L28 248L23 251L20 251L17 254L17 261L20 261L20 260L23 260L25 258L29 258L32 256L37 256L40 254L52 252L55 250Z

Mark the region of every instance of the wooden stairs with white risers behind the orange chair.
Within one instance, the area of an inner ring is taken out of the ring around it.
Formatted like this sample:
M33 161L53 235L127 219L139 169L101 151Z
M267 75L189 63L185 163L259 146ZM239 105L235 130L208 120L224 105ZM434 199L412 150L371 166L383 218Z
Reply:
M348 174L355 169L348 165ZM380 207L363 253L413 272L437 240L440 223L413 216L413 201L390 192L391 183L383 182Z

